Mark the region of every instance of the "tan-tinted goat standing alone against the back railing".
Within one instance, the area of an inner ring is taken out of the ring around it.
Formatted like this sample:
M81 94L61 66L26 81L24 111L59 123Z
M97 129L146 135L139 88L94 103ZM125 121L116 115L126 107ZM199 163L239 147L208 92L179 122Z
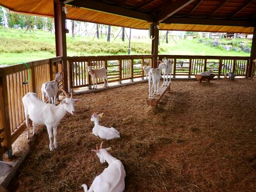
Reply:
M88 66L88 72L92 76L93 89L94 84L96 84L95 89L97 89L97 79L103 78L104 86L108 86L108 76L105 67L92 69L92 66Z

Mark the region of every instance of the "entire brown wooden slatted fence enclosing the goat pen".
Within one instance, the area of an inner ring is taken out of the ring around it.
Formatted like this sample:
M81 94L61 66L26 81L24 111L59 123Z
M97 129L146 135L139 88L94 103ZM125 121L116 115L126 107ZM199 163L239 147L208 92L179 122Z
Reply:
M86 68L88 65L106 67L109 82L143 79L143 65L152 67L152 58L152 55L68 57L68 77L64 82L68 82L68 88L90 87L92 80ZM159 55L159 60L164 58L173 61L173 77L190 78L209 68L218 77L228 72L234 72L236 76L256 77L256 66L255 63L250 66L250 57ZM35 92L42 99L42 83L53 80L53 72L62 70L61 57L26 64L31 75L24 63L0 68L0 159L6 151L12 156L12 143L26 128L22 97L28 92ZM28 83L23 84L28 79ZM103 83L102 79L99 83Z

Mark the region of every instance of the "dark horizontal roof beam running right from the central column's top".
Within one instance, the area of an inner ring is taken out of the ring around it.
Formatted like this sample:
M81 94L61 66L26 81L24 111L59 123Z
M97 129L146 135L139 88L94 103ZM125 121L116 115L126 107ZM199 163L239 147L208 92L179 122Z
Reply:
M164 20L165 24L197 24L206 26L241 26L255 27L256 21L248 20L217 20L217 19L194 19L194 18L169 18Z

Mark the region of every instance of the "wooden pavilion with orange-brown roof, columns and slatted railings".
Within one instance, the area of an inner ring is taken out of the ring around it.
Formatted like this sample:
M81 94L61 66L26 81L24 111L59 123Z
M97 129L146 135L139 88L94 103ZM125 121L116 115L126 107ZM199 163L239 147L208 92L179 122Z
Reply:
M18 64L0 69L0 158L5 151L12 156L12 143L26 127L21 102L23 95L40 93L42 83L54 79L52 72L63 70L63 86L70 90L90 85L90 76L84 72L86 65L110 68L108 61L115 60L118 64L114 67L118 70L110 74L109 80L121 82L143 77L143 70L136 70L134 65L148 63L156 67L156 60L166 57L174 62L173 76L190 77L205 71L207 64L214 62L218 63L214 69L219 77L229 68L238 76L255 77L256 0L0 0L0 5L10 12L54 17L56 36L56 58L29 62L31 83L26 86L22 85L29 73L26 66ZM148 29L152 52L141 56L68 57L65 19ZM250 57L159 55L159 30L253 34L252 51ZM177 65L179 59L187 60L188 68L180 68ZM140 60L140 63L134 63L134 60ZM223 69L223 65L228 68Z

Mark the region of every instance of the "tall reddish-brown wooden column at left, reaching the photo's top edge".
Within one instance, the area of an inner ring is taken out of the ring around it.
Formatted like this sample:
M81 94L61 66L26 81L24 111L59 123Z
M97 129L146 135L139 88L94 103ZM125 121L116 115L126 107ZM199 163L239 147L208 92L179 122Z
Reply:
M60 0L54 0L54 26L56 56L62 56L62 70L64 90L68 92L68 70L67 70L67 40L66 40L66 13L65 4Z

